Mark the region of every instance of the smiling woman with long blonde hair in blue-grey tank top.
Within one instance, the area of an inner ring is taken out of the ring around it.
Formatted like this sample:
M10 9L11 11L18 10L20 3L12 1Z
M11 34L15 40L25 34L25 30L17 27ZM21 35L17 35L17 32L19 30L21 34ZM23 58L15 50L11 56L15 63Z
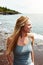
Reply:
M6 55L9 55L13 51L13 65L34 65L34 36L31 28L30 19L21 16L17 19L13 34L7 39L9 45Z

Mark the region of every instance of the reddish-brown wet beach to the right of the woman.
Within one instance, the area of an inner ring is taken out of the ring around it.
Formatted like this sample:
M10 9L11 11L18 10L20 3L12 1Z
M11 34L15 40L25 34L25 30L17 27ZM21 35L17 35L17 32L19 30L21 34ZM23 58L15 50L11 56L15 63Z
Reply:
M43 45L34 46L35 65L43 65Z

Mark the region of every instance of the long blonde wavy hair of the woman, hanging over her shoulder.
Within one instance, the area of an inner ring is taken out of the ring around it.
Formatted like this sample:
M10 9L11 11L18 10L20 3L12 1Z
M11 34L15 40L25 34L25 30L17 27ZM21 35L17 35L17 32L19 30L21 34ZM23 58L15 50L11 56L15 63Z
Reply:
M21 35L20 34L20 31L21 29L23 28L23 26L25 25L25 23L28 21L28 17L27 16L20 16L17 21L16 21L16 24L15 24L15 27L14 27L14 32L13 34L10 36L11 37L11 42L7 42L9 43L8 45L8 48L7 48L7 54L10 54L11 51L13 51L13 49L16 47L16 44L17 44L17 40L18 40L18 37ZM10 38L9 37L9 38Z

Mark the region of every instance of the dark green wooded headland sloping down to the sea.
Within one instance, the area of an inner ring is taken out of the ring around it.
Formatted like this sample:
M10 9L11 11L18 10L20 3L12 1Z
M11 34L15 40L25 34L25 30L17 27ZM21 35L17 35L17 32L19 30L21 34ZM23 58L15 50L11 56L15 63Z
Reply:
M20 14L20 12L8 9L6 7L0 7L0 14L6 15L6 14Z

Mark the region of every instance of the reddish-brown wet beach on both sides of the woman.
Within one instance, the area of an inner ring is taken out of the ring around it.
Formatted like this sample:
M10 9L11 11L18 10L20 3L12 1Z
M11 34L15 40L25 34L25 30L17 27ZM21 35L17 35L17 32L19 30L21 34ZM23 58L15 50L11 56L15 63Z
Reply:
M5 40L7 38L7 35L5 37L2 37L3 35L0 34L1 47L5 45ZM11 55L10 58L11 64L9 64L8 58L3 54L5 47L3 47L3 49L1 47L0 47L0 65L13 65L13 55ZM35 45L33 49L34 49L35 65L43 65L43 45Z

